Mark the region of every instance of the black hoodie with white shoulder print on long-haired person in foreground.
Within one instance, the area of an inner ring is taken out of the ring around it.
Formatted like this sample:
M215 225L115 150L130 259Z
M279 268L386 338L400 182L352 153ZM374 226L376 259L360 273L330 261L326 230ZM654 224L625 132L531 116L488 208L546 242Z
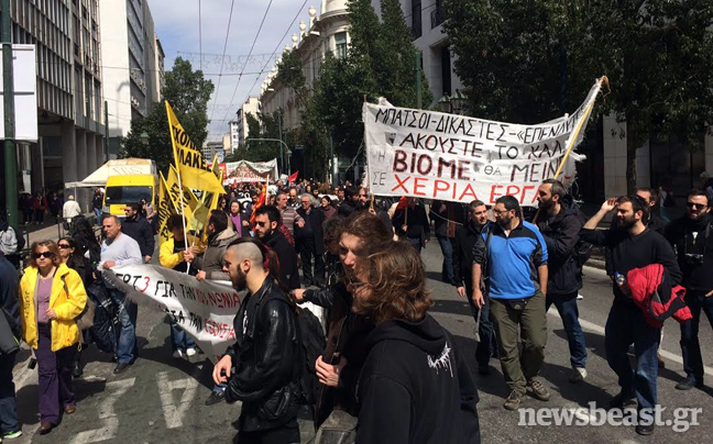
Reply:
M478 391L453 337L430 315L366 338L356 443L480 443Z

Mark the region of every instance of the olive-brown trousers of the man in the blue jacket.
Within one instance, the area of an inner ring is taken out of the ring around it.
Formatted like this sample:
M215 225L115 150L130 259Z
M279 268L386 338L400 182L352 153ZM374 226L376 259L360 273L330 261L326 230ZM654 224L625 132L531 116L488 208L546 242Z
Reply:
M545 362L545 296L538 291L523 310L513 309L506 299L491 299L491 313L505 382L511 390L525 395L527 382L539 374ZM523 342L522 354L518 330Z

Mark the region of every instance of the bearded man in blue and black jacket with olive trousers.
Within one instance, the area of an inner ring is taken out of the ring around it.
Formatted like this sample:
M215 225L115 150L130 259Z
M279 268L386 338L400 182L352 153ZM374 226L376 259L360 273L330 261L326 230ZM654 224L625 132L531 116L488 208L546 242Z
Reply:
M493 214L496 223L481 233L473 247L473 282L480 282L482 276L489 279L486 295L491 299L501 367L511 389L503 407L517 410L527 389L540 401L550 398L549 390L537 378L547 344L547 246L537 226L520 220L515 197L498 198ZM478 285L473 285L473 301L480 309L485 302Z

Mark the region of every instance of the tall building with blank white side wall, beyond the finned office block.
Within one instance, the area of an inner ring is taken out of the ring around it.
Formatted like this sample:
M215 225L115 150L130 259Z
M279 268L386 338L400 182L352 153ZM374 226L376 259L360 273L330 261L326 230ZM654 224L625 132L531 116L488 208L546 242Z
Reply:
M116 157L131 120L161 98L163 48L146 0L102 0L101 57L109 113L109 154Z

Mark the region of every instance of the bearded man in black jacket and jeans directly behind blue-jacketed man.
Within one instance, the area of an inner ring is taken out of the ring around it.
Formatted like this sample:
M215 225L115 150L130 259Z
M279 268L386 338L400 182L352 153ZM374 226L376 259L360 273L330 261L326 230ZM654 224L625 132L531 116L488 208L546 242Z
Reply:
M547 244L549 279L545 310L553 303L562 319L570 349L571 382L586 378L586 345L579 323L577 293L582 288L582 264L575 253L583 221L562 182L547 179L539 186L541 218L537 227Z

